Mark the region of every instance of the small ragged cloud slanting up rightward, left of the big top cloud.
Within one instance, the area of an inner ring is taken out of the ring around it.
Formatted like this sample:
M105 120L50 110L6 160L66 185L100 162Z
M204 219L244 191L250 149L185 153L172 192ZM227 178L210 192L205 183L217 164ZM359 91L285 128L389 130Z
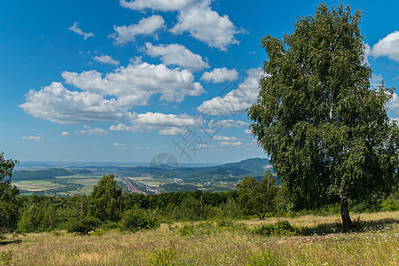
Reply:
M153 35L158 29L165 27L165 20L160 15L153 15L129 26L113 26L115 31L108 37L114 39L114 44L134 42L137 35Z

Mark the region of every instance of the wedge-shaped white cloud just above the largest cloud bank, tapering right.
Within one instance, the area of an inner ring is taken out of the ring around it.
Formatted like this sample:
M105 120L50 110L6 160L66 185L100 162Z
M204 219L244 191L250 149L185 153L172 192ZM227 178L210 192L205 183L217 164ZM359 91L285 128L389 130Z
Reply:
M165 65L182 66L191 71L200 71L209 67L207 63L198 54L194 54L183 45L160 44L154 46L152 43L145 43L146 52L152 57L161 58Z

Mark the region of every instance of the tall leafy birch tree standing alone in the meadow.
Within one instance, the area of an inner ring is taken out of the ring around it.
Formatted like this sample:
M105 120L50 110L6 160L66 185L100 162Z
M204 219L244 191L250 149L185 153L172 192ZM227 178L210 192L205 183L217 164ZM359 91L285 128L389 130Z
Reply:
M266 35L257 101L248 110L258 144L299 207L389 192L398 182L398 126L387 117L393 89L372 88L364 60L361 12L317 7L292 35Z

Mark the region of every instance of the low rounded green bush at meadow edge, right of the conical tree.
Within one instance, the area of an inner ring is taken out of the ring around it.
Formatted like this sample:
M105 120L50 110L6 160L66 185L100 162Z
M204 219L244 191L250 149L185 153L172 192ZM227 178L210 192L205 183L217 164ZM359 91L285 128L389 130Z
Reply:
M137 206L125 211L122 215L120 227L127 231L139 231L160 226L155 212L146 211Z

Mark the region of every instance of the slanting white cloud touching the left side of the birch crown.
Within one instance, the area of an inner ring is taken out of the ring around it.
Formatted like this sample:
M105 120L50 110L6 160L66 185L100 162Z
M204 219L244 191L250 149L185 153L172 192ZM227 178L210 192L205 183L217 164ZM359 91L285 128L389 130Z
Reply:
M204 101L197 109L200 113L231 114L243 113L252 106L259 94L259 79L262 75L261 68L252 68L247 71L244 82L238 88L231 90L223 97L215 97Z

